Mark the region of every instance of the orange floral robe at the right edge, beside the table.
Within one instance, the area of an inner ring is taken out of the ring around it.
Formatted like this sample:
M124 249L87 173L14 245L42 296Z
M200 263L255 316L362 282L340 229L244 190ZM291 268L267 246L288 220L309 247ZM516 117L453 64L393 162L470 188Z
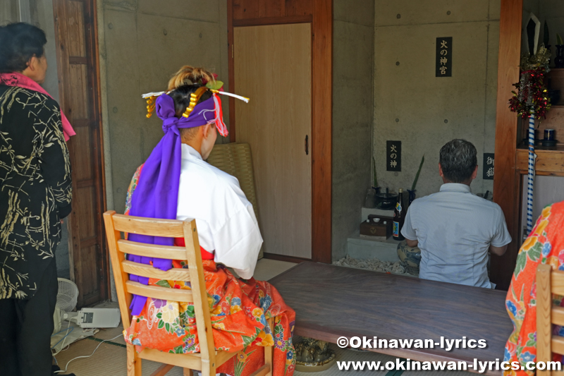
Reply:
M505 344L505 361L525 365L537 359L537 266L548 264L564 270L564 202L546 207L531 234L521 246L505 307L514 330ZM564 306L562 296L553 304ZM553 334L564 336L564 329L553 326ZM562 356L553 360L561 361ZM505 376L532 376L530 370L505 370Z

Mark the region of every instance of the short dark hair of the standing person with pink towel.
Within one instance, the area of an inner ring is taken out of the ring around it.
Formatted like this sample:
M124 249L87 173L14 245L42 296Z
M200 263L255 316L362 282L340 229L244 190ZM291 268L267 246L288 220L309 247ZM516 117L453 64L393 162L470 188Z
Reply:
M25 71L33 56L43 56L46 43L45 32L29 23L0 27L0 73Z

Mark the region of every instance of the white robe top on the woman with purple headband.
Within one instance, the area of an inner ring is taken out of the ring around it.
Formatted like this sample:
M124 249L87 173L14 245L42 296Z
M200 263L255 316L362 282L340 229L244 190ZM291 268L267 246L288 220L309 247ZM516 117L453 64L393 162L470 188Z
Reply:
M182 144L182 166L176 219L196 219L200 246L214 261L250 279L262 245L252 205L234 176L204 162L193 147Z

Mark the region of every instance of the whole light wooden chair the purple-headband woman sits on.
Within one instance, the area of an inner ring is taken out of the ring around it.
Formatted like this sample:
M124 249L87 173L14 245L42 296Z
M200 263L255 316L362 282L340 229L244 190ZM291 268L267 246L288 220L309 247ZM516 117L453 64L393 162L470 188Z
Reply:
M108 238L111 265L114 269L123 328L128 329L130 326L131 311L129 305L132 294L167 301L193 302L197 333L200 339L200 353L187 354L165 353L153 348L145 348L142 352L136 353L135 346L128 344L128 376L141 376L142 359L164 363L152 376L166 375L166 372L175 365L184 368L184 375L192 376L192 370L200 370L202 376L215 376L216 368L231 359L236 353L215 350L195 219L187 219L182 222L172 219L130 217L116 214L112 210L104 213L104 222L106 224L106 236ZM123 239L121 232L147 236L184 238L186 245L185 247L176 247L136 243ZM163 272L150 265L125 260L125 253L173 260L187 260L188 269L173 268ZM128 274L149 278L190 281L192 290L145 286L130 281ZM271 327L273 327L273 321L272 319L269 320ZM264 365L253 373L252 376L271 376L271 364L272 347L270 346L264 348Z

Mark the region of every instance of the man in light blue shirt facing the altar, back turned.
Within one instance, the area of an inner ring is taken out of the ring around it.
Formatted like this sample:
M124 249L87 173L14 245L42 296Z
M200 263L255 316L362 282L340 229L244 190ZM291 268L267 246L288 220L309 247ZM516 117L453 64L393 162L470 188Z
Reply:
M419 278L494 289L488 250L501 256L511 242L501 207L470 191L478 173L476 147L452 140L441 148L438 193L412 202L401 234L419 247Z

